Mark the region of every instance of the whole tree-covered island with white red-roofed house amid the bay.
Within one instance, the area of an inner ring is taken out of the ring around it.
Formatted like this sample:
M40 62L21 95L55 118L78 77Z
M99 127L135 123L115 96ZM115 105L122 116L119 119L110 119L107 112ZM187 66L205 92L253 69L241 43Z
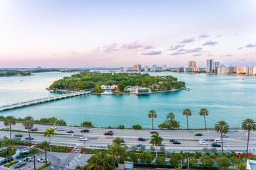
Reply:
M80 91L91 89L97 94L149 94L177 91L185 88L184 81L176 77L151 76L141 73L80 72L63 77L49 86L50 90Z

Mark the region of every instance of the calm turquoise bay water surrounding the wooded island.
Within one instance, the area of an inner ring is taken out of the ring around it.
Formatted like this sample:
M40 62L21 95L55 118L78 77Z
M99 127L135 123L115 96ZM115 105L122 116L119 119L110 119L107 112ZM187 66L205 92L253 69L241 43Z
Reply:
M55 116L62 118L68 125L80 125L83 120L91 121L98 127L117 127L117 125L142 125L151 128L148 111L154 109L158 117L154 120L156 127L166 120L170 111L186 128L186 117L181 113L184 108L191 108L190 128L202 128L203 117L198 112L207 108L210 112L206 118L212 128L216 121L225 120L230 127L239 127L245 118L256 120L256 78L230 75L151 73L152 75L171 74L178 80L185 81L191 91L151 94L150 96L112 95L100 96L87 94L60 101L43 103L27 108L4 111L0 115L16 115L34 118ZM53 95L45 90L54 80L70 73L41 73L34 77L0 77L0 105L11 101L23 101L24 98L37 98ZM20 81L23 79L23 81ZM24 89L25 88L25 89Z

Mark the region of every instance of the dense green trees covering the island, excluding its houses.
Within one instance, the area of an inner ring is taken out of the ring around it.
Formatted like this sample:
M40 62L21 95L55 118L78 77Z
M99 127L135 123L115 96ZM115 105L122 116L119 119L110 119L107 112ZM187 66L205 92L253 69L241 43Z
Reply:
M157 91L180 89L185 86L185 82L177 81L176 77L161 76L152 77L149 74L140 73L99 73L80 72L70 77L63 77L54 81L50 89L83 90L95 88L94 92L102 92L100 85L119 84L119 91L124 91L126 86L143 86L151 88L152 84L157 84Z

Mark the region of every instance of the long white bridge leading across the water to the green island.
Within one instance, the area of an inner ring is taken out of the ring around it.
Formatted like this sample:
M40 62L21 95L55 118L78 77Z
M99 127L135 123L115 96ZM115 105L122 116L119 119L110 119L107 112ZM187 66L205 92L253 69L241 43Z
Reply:
M73 93L69 93L69 94L48 96L46 98L38 98L38 99L23 101L23 102L19 102L19 103L11 103L11 104L1 106L0 107L0 112L1 111L6 111L6 110L11 110L11 109L14 109L14 108L21 108L21 107L31 106L31 105L35 105L35 104L38 104L38 103L56 101L56 100L60 100L60 99L63 99L63 98L81 96L83 94L90 94L90 91L79 91L79 92L73 92Z

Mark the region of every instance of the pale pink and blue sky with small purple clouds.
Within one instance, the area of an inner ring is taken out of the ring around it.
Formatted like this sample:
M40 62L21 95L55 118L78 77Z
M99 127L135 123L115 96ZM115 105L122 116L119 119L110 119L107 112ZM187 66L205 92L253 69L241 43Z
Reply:
M255 0L0 0L0 68L256 66Z

